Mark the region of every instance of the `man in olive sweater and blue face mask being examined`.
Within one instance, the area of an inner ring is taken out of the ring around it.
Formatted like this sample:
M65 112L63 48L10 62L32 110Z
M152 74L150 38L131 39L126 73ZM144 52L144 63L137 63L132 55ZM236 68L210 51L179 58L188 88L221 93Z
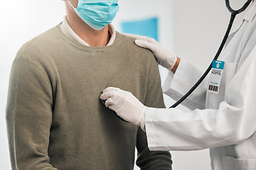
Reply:
M87 2L106 9L100 6L106 1L65 1L64 21L26 42L13 61L6 106L12 169L131 170L135 147L141 169L172 169L169 152L150 152L145 132L99 101L103 89L119 86L164 108L152 52L116 32L110 20L103 28L101 21L84 21ZM107 2L117 11L117 1Z

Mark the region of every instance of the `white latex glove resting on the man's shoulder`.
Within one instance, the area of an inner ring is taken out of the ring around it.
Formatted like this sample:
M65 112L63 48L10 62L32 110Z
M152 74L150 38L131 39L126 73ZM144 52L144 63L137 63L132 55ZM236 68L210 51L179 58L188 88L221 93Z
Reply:
M174 67L174 64L177 61L177 56L174 55L173 52L167 51L154 38L148 38L146 36L133 35L128 33L123 33L123 35L127 35L130 38L135 38L136 45L151 50L157 58L157 62L162 65L162 67L165 67L169 70Z

